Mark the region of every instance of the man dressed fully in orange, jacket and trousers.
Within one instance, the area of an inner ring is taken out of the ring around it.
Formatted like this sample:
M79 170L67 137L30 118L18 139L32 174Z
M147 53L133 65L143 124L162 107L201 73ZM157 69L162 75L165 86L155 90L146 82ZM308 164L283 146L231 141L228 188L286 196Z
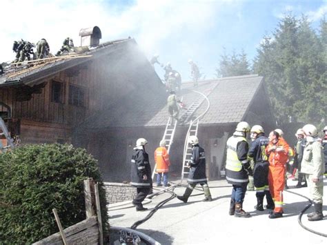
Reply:
M270 219L283 217L283 190L288 150L289 146L285 139L276 131L270 132L269 144L266 148L266 155L269 156L268 184L275 203L273 213L269 215Z

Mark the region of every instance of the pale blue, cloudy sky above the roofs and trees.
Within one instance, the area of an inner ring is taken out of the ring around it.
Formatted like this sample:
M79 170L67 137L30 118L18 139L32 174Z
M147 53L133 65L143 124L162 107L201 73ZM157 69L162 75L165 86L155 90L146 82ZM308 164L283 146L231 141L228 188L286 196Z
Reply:
M3 0L0 63L14 59L15 40L45 38L55 54L66 37L79 46L79 30L98 26L100 42L132 37L148 59L158 54L183 81L190 79L188 59L210 79L224 52L244 50L252 61L263 37L290 12L306 14L318 30L327 0ZM155 69L162 78L162 68Z

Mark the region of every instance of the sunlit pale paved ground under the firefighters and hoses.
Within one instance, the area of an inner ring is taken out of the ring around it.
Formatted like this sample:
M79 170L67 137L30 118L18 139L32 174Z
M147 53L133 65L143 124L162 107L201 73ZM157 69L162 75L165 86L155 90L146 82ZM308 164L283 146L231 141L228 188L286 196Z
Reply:
M244 210L250 212L248 219L228 215L231 187L226 180L209 182L212 202L201 202L204 195L195 190L187 204L174 198L159 208L148 221L137 227L137 231L150 235L161 244L294 244L312 245L327 244L327 237L306 231L299 225L298 218L301 210L309 204L308 188L294 188L297 182L288 180L289 191L284 192L284 217L269 219L268 210L257 211L255 192L246 193ZM302 223L310 229L327 234L327 179L324 179L324 220L308 222L306 215ZM200 186L199 186L200 187ZM181 195L185 187L175 188L175 193ZM291 193L292 192L292 193ZM159 202L170 197L164 193L153 197L146 208L151 210ZM306 213L313 212L313 207ZM130 204L110 206L111 226L132 226L143 219L149 211L136 212Z

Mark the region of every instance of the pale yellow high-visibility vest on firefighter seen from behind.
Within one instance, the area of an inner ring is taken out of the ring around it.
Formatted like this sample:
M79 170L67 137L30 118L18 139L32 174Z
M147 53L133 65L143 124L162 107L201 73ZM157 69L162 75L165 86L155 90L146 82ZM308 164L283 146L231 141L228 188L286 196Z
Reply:
M226 169L228 170L237 172L242 169L242 162L237 157L237 144L240 141L246 141L246 138L232 136L227 140Z

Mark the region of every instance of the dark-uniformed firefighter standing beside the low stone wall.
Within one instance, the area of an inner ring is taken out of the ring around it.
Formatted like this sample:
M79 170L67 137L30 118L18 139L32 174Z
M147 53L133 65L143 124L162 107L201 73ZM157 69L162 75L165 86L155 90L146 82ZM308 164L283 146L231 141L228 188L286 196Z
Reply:
M133 199L132 204L136 206L137 211L148 209L143 207L142 202L152 188L151 166L145 149L147 144L148 141L146 139L137 139L136 147L134 148L135 153L132 155L131 160L130 184L137 188L137 195Z

